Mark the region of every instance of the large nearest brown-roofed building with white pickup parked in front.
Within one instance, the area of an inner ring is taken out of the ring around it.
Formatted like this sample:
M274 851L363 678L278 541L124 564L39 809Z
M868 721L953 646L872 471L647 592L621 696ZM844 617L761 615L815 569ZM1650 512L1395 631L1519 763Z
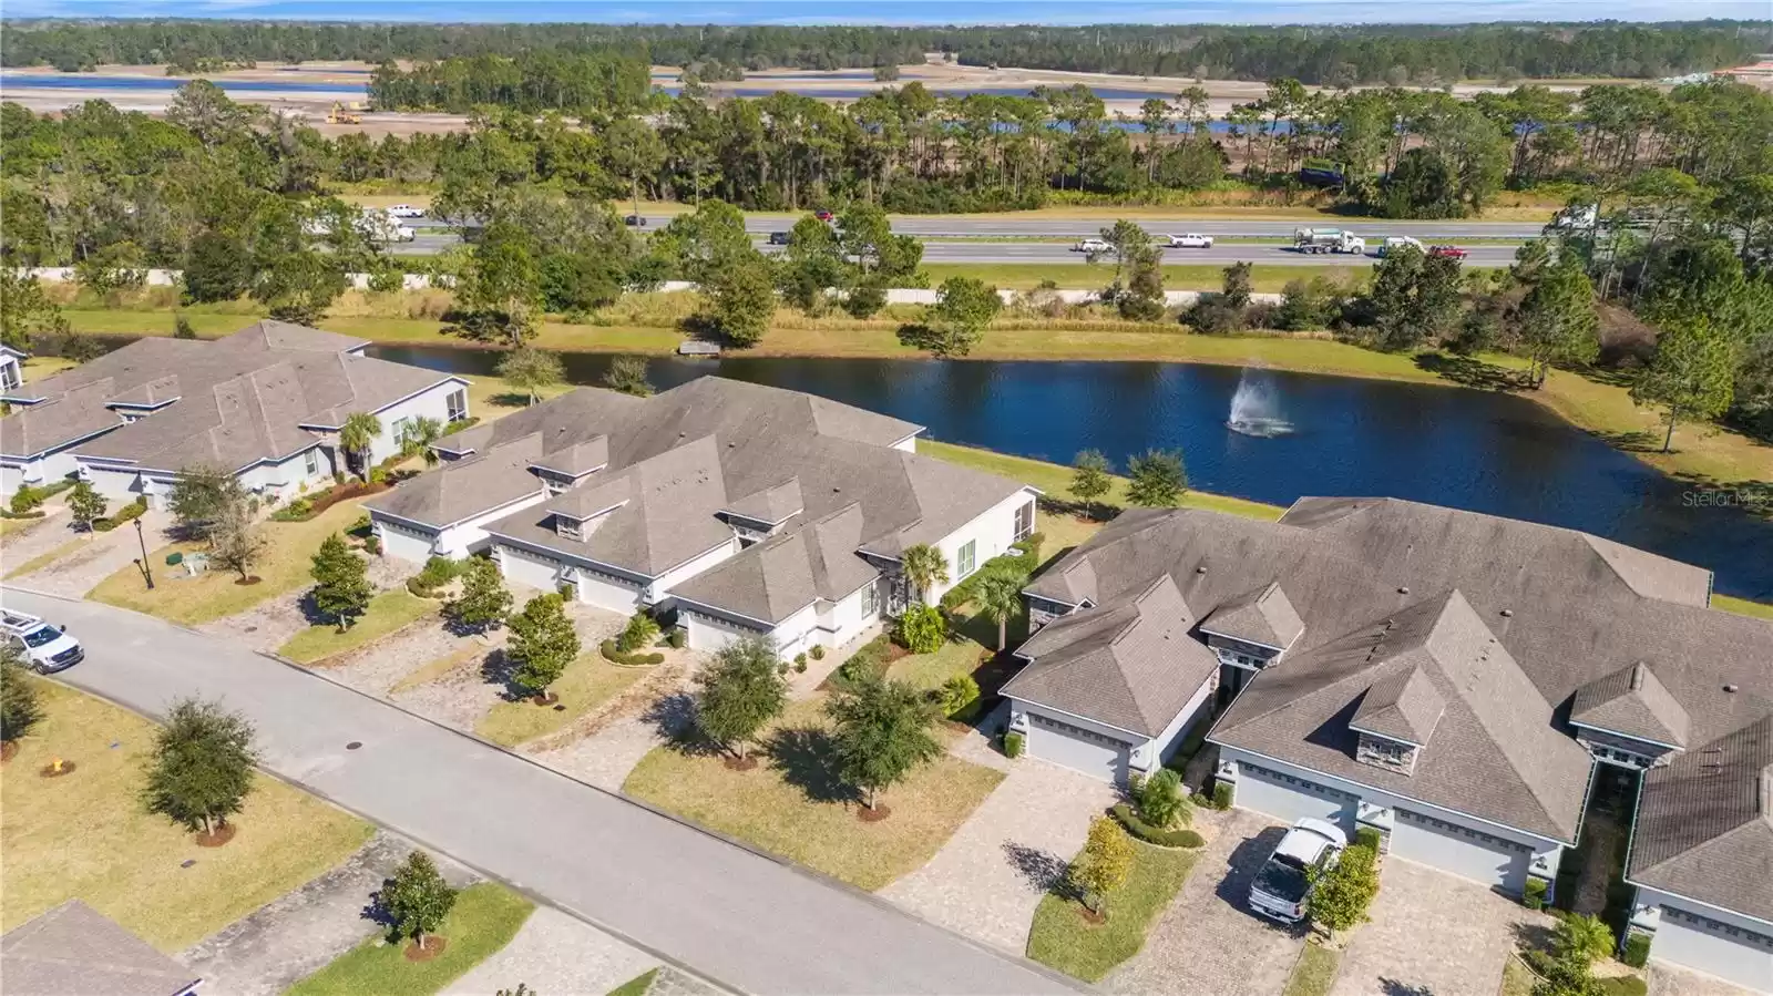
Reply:
M1273 523L1128 512L1025 595L1004 695L1030 755L1119 780L1211 721L1238 806L1516 895L1555 891L1597 764L1640 773L1631 932L1773 991L1773 624L1709 608L1709 571L1301 498Z

